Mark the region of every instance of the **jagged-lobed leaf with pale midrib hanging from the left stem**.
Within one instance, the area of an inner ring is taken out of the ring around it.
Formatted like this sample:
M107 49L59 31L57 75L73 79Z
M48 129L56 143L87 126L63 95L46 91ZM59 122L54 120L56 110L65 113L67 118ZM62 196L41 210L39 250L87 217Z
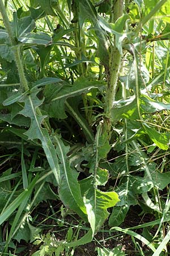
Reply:
M48 131L41 127L41 123L45 117L40 116L36 113L37 107L39 107L43 101L39 100L39 98L37 98L36 96L39 91L40 89L37 89L35 92L32 92L30 95L24 96L23 99L20 100L25 104L24 109L20 111L20 114L24 115L25 117L31 118L31 126L29 127L29 130L26 131L24 134L28 136L28 139L40 139L49 166L50 168L52 168L53 174L56 177L57 184L59 184L60 172L56 151L49 137Z

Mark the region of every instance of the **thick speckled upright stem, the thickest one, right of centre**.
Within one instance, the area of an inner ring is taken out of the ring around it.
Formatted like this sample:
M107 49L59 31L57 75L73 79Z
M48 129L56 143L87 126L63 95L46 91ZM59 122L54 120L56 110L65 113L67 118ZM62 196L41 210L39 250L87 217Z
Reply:
M113 22L122 16L123 14L123 0L116 1L114 3L114 13L113 13ZM104 130L107 131L108 137L110 138L111 131L111 110L113 107L113 101L115 100L116 95L116 86L118 79L118 72L120 69L121 63L121 53L116 47L116 39L114 38L114 45L111 46L111 56L109 58L109 78L108 78L108 88L105 95L105 107L104 107Z

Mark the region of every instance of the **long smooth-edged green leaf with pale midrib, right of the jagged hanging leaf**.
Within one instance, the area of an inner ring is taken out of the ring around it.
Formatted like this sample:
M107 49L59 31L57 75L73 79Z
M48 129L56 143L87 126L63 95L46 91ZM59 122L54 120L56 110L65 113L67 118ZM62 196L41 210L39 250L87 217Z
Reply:
M69 150L59 137L54 136L56 152L60 159L61 183L58 188L58 195L66 207L74 210L80 217L87 219L86 208L84 207L80 185L78 183L78 172L70 168L66 154Z

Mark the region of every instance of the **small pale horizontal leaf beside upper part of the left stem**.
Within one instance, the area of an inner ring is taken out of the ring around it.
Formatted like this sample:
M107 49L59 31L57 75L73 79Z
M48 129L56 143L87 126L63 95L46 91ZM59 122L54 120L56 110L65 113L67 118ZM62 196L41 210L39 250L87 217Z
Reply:
M37 34L37 33L28 33L24 34L22 36L19 36L18 38L19 42L23 44L42 44L46 46L47 44L52 43L52 39L50 38L49 35L45 33Z

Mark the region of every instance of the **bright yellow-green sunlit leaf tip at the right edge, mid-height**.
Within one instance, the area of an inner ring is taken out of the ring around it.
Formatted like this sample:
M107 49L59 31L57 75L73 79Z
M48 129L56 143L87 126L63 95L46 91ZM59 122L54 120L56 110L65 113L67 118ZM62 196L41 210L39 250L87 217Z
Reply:
M162 148L162 150L168 149L169 144L169 136L165 133L159 133L154 128L149 127L144 123L143 125L145 127L146 133L151 138L151 140L158 146L159 148Z

